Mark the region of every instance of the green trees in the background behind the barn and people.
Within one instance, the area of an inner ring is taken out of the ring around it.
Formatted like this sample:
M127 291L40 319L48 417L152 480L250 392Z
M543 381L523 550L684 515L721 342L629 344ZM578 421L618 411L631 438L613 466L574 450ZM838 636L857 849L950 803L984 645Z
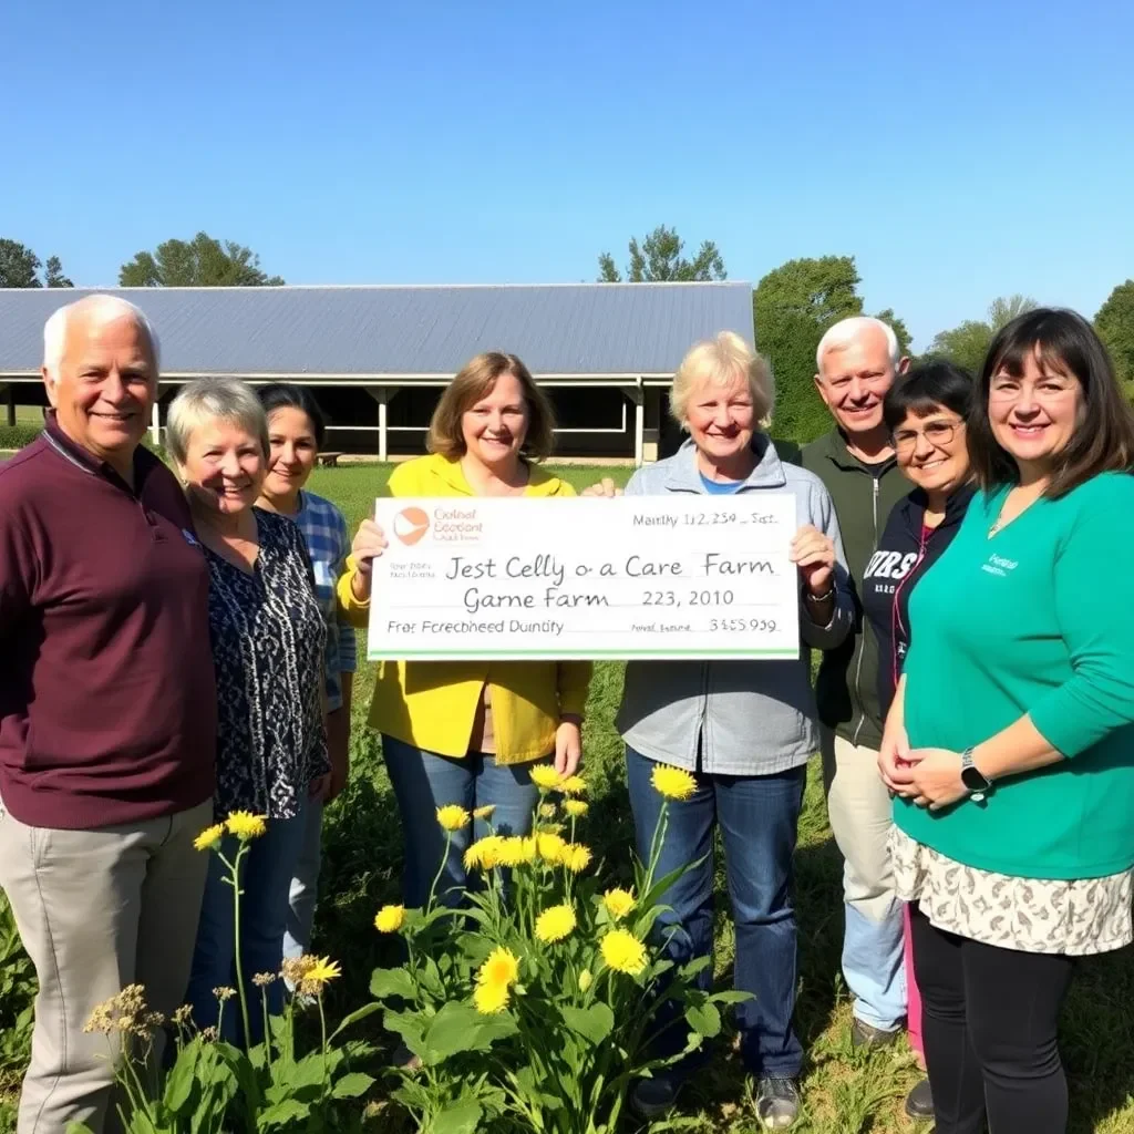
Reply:
M692 256L677 230L658 226L641 240L632 237L621 270L615 257L599 256L601 284L725 280L720 249L703 240ZM264 287L281 285L269 276L260 257L244 245L197 232L191 240L166 240L153 252L138 252L118 272L121 287ZM865 314L858 287L862 279L854 256L789 260L772 269L752 294L756 347L768 356L776 376L777 437L807 441L826 428L828 416L814 391L815 348L823 332L848 315ZM0 239L0 287L73 287L58 256L41 263L27 246ZM939 332L921 356L945 357L975 374L992 336L1023 311L1034 307L1029 296L993 299L981 319L965 320ZM877 312L898 337L904 354L911 336L892 307ZM1094 316L1094 325L1115 362L1119 379L1134 396L1134 279L1111 291Z

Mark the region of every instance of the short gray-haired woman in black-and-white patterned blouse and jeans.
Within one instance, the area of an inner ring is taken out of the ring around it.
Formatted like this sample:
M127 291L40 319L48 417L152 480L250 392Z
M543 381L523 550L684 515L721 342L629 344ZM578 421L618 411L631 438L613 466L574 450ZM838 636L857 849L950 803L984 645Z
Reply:
M311 559L299 528L254 507L268 469L268 420L235 379L202 379L170 407L167 446L180 473L196 538L209 564L209 621L217 669L217 820L236 811L266 820L244 858L240 951L245 984L278 973L288 895L303 846L305 812L330 782L323 723L323 644ZM228 840L226 840L228 841ZM235 847L226 857L231 862ZM213 989L235 983L232 889L219 855L210 862L189 1002L198 1027L218 1017ZM270 1012L282 982L264 990ZM237 1013L225 1014L236 1036ZM259 1026L257 1026L259 1025ZM263 1029L253 1013L255 1043Z

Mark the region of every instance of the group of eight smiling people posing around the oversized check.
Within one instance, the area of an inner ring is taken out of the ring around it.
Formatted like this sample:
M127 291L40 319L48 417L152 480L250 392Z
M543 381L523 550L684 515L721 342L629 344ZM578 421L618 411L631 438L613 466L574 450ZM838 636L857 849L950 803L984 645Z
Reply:
M113 1127L113 1068L82 1026L122 984L215 1023L234 907L219 857L194 850L214 819L266 818L244 875L248 974L307 947L322 805L348 775L352 627L386 550L370 519L348 545L304 488L324 430L307 391L185 387L175 474L141 443L158 381L141 312L107 296L57 312L43 373L44 433L0 466L0 886L40 979L20 1134ZM938 1134L1055 1134L1074 958L1132 939L1134 616L1098 572L1103 550L1134 553L1116 523L1134 505L1134 415L1091 327L1055 310L1009 323L979 375L909 369L892 329L846 320L819 345L815 388L830 432L778 446L764 359L729 332L697 344L670 398L688 439L625 490L790 496L797 522L797 658L626 667L617 727L643 856L653 767L696 784L671 804L660 869L696 865L658 940L677 959L711 951L719 830L735 981L752 993L741 1056L762 1125L789 1127L804 1061L793 855L819 751L854 1044L908 1031L928 1078L906 1110ZM438 404L429 456L386 491L573 497L541 465L552 426L519 358L479 355ZM492 807L497 830L522 833L533 767L574 772L590 680L586 662L379 665L370 722L406 905L439 870L460 902L483 833L447 843L438 807ZM273 1010L286 993L271 987ZM676 1055L680 1014L661 1013ZM637 1083L634 1110L665 1114L704 1058Z

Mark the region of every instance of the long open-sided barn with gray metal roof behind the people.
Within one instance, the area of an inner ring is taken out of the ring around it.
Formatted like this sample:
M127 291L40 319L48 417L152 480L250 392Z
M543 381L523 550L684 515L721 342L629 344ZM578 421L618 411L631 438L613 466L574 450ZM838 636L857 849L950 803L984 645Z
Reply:
M0 395L43 401L43 323L98 289L0 289ZM108 288L161 340L164 424L178 388L227 374L308 386L328 448L379 459L423 451L441 389L473 355L519 355L557 411L556 456L641 464L672 449L666 388L699 339L752 341L748 284Z

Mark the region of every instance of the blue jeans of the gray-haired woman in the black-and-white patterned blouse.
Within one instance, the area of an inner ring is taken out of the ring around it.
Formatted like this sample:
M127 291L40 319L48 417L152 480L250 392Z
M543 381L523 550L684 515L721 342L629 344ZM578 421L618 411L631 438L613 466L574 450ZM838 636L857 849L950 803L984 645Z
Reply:
M306 801L294 819L270 819L268 830L248 844L248 852L240 864L240 959L244 970L245 992L252 1035L249 1042L259 1043L263 1036L263 1013L260 989L252 983L257 973L278 974L284 959L284 932L288 915L288 890L295 875L307 815ZM236 861L239 844L231 836L222 843L225 857ZM232 908L232 887L225 878L228 868L220 857L209 853L209 879L197 925L197 943L193 954L193 973L189 978L188 1002L198 1027L215 1025L217 997L213 989L236 988L236 921ZM277 980L264 990L268 1010L276 1015L284 1010L284 981ZM225 1005L222 1033L228 1040L238 1040L240 1006L235 999Z

